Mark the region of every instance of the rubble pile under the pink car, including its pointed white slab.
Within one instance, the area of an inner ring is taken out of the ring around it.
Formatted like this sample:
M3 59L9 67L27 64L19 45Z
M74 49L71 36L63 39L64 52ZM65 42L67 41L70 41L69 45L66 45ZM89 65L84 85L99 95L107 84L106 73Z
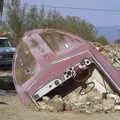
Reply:
M89 81L93 81L95 87L87 94L80 95L79 87L63 98L60 95L56 95L52 99L44 96L43 100L38 102L39 110L74 111L88 114L120 111L120 97L114 94L106 82L103 83L102 75L97 70L94 70ZM104 84L106 84L106 88Z

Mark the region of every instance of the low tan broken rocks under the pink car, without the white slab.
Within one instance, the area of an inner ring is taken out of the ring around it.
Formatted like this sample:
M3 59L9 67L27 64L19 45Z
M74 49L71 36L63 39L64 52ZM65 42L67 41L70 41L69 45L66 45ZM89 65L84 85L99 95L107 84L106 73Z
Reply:
M116 104L118 98L119 96L117 95L106 94L106 99L103 99L102 94L96 89L81 96L77 89L64 98L59 95L56 95L52 99L45 96L43 97L43 101L38 102L38 104L40 110L50 112L74 111L92 114L95 112L120 111L120 105L118 105L118 102Z

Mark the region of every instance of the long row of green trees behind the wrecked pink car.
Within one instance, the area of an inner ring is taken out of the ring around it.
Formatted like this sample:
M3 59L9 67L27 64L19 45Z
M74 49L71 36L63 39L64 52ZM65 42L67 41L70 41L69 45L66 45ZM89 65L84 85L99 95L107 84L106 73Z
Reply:
M64 17L55 9L46 11L44 6L41 6L40 10L35 5L27 9L27 5L20 5L20 0L14 0L12 5L8 6L6 23L15 39L15 45L25 31L36 28L61 29L91 42L95 41L97 36L95 27L79 17Z

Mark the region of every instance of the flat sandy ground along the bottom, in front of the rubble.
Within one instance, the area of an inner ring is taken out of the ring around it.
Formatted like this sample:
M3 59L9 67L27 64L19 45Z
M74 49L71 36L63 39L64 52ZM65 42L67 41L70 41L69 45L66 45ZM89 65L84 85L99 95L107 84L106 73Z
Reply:
M33 111L21 104L16 94L0 96L0 120L120 120L119 113L81 114Z

